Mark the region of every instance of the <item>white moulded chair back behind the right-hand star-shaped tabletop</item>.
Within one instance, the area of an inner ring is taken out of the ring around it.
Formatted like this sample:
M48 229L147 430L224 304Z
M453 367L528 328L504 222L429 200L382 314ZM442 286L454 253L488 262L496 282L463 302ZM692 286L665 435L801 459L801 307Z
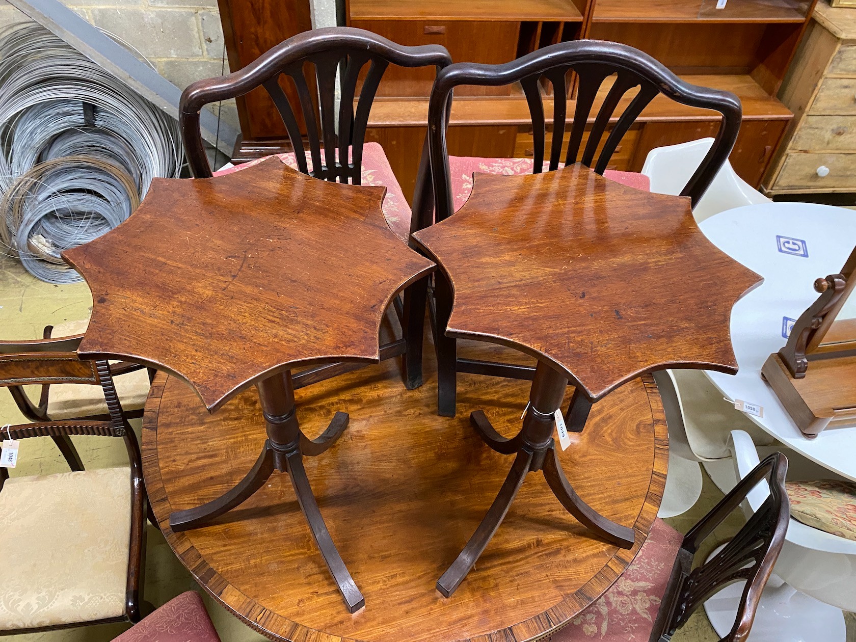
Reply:
M679 194L713 145L712 138L691 140L680 145L657 147L648 152L642 173L651 181L651 192ZM693 209L697 223L721 211L733 210L742 205L769 203L770 199L758 193L737 175L728 161L716 174L710 187Z

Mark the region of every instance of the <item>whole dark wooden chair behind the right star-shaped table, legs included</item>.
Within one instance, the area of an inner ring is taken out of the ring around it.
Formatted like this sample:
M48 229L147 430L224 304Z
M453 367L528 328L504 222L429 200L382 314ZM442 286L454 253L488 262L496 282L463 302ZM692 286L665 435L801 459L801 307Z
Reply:
M546 119L544 99L539 86L550 82L553 95L565 96L569 76L579 76L579 90L574 103L553 101L552 122L554 132L564 132L568 124L568 104L574 104L570 121L570 137L566 150L562 150L563 137L552 136L548 161L544 161ZM627 45L599 40L577 40L544 47L513 62L499 65L457 62L443 68L431 92L428 110L431 176L436 201L437 222L455 211L455 189L449 169L449 152L446 146L446 128L449 125L451 95L456 86L501 86L520 82L529 112L532 116L534 158L514 159L516 162L495 163L500 159L484 159L484 167L496 165L498 173L528 173L559 169L562 163L583 163L603 175L609 159L621 143L621 138L636 118L659 94L681 104L716 110L722 114L722 125L710 151L693 172L681 191L692 199L693 205L704 194L728 158L740 129L740 100L730 92L690 85L669 69ZM632 98L631 98L632 96ZM593 106L598 104L597 110ZM621 110L618 108L621 107ZM617 111L621 111L618 116ZM586 127L591 122L586 146L582 146ZM607 129L610 127L609 133ZM604 140L605 136L605 140ZM453 158L454 160L454 158ZM522 162L524 161L525 162ZM461 171L457 172L461 174ZM609 173L607 173L609 177ZM460 199L459 199L460 200ZM415 214L416 212L414 212ZM413 223L414 231L432 223L430 213L420 211L422 218ZM490 248L484 248L490 252ZM435 346L438 361L439 413L455 415L455 377L457 372L532 379L534 366L518 366L482 360L459 359L455 339L445 336L452 307L449 282L438 271L430 301L435 328Z

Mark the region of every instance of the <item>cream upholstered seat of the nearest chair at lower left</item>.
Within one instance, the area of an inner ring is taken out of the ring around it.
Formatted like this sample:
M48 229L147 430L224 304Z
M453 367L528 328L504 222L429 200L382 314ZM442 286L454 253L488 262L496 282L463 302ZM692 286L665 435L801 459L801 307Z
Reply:
M0 631L124 616L130 540L129 467L7 479Z

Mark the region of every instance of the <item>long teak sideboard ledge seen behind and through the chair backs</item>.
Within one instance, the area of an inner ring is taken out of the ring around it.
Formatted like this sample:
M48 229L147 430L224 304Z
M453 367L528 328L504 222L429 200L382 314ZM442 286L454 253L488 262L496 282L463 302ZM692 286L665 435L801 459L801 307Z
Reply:
M789 120L793 114L776 98L764 92L752 77L747 74L704 74L682 75L683 80L694 85L714 87L734 92L743 104L743 119L750 120ZM609 92L609 84L604 83L598 92L595 109L590 120L597 115L597 107ZM625 96L615 110L621 115L632 95ZM574 113L574 100L568 100L568 114ZM553 112L553 98L544 97L544 114L547 121ZM710 121L716 112L687 107L666 98L657 96L651 101L642 115L641 122L653 121ZM428 118L427 98L387 98L377 99L372 106L369 127L418 127L425 126ZM452 103L452 125L526 125L532 122L526 98L521 92L515 92L508 98L456 98Z

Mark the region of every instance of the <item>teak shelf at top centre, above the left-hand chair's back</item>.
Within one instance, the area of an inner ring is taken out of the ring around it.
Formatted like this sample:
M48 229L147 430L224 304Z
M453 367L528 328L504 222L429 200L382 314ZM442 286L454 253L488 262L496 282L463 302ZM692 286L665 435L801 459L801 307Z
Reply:
M571 0L351 0L350 19L582 22Z

